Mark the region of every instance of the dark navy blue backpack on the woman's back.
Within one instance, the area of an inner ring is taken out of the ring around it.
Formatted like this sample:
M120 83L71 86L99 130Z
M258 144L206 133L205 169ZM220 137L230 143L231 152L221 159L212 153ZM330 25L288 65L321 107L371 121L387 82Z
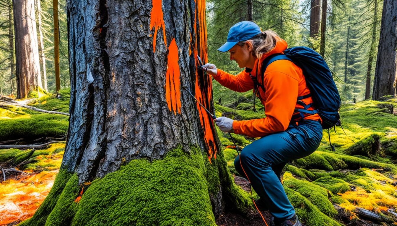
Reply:
M335 82L333 81L330 68L328 68L320 54L309 47L299 46L285 49L284 54L276 53L270 55L266 57L262 63L262 69L260 72L262 82L267 66L272 62L281 59L292 61L302 69L306 85L310 90L310 95L298 97L297 104L303 105L304 109L295 108L294 113L299 112L299 114L295 114L298 116L295 118L304 118L303 114L318 113L322 119L323 129L329 129L335 125L341 125L338 112L341 105L341 98ZM254 83L255 82L256 79L254 80ZM258 82L256 82L255 86L262 87L264 90L263 84L258 84ZM313 99L314 106L317 108L316 110L307 110L312 106L312 104L306 105L301 101L302 99L310 96ZM294 117L292 120L293 119Z

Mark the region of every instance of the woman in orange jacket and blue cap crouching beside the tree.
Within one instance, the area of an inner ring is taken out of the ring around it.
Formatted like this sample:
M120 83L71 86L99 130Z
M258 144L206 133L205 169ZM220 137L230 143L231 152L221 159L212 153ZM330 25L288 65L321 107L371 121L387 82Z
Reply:
M308 156L318 148L322 127L318 114L300 114L295 110L312 103L301 68L291 61L277 60L260 75L266 57L283 53L286 48L287 43L276 33L262 32L255 23L243 21L230 28L227 42L218 50L229 51L230 60L245 70L234 76L210 63L202 69L229 89L254 89L260 97L266 118L237 121L219 117L215 121L224 132L261 137L243 148L234 161L235 168L251 181L262 205L272 214L272 225L299 226L302 224L278 176L285 163Z

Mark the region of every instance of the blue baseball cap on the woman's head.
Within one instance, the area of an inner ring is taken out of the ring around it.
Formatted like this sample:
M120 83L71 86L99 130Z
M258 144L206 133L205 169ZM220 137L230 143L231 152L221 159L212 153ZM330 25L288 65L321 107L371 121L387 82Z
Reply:
M247 41L257 34L262 33L259 26L251 21L241 21L230 28L227 34L227 42L221 46L218 51L226 52L231 49L237 42Z

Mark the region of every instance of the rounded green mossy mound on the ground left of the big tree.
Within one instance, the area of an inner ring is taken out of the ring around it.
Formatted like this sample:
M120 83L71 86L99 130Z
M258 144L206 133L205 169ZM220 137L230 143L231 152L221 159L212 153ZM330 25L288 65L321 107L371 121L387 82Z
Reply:
M0 111L5 113L0 118L0 141L15 138L63 137L69 126L69 117L64 115L41 113L13 106L2 107Z

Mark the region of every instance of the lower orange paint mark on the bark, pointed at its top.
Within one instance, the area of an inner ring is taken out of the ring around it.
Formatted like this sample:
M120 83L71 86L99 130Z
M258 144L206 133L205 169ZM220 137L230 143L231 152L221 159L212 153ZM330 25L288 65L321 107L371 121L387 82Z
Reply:
M168 109L173 110L174 114L176 112L181 114L181 91L179 80L180 70L179 70L179 57L178 57L178 47L175 42L175 38L171 41L168 47L168 64L166 72L166 101Z

